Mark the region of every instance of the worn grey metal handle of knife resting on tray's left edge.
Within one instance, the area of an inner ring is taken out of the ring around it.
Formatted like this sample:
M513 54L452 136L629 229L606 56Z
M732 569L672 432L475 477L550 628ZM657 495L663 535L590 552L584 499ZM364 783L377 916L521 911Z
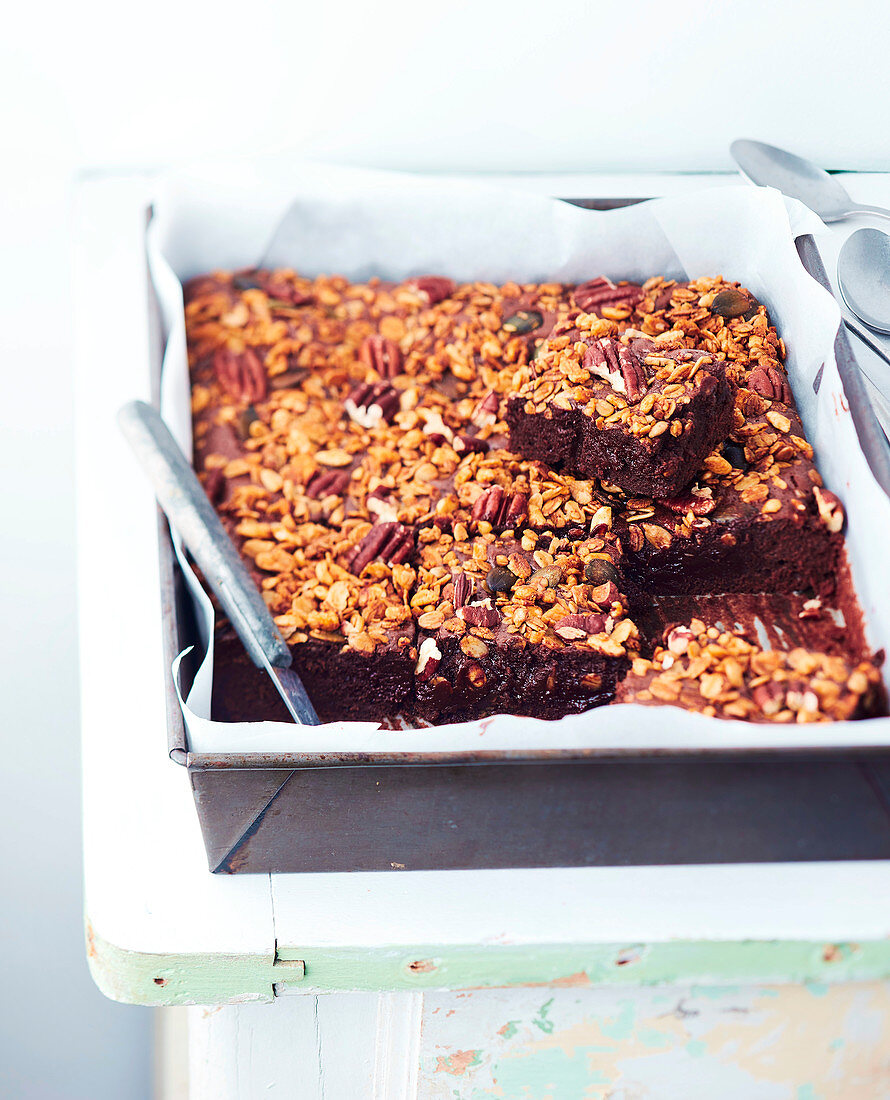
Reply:
M266 661L274 668L289 668L293 658L287 642L157 410L144 402L130 402L118 414L118 424L251 660L259 668Z

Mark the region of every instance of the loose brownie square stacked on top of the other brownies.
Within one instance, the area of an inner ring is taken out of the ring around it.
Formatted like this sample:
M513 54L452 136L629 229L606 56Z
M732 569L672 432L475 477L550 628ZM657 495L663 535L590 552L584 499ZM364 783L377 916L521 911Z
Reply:
M729 432L722 361L581 314L557 324L507 403L509 446L628 493L670 497Z

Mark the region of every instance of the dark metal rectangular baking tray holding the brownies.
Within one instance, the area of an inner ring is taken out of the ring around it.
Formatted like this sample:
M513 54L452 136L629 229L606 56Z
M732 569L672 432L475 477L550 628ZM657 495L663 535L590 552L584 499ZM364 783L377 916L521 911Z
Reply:
M813 239L798 252L827 287ZM163 339L149 285L157 402ZM843 327L835 351L862 450L890 486L890 450ZM873 749L189 752L169 668L197 631L162 515L158 542L169 755L188 770L212 871L890 858L890 759Z

